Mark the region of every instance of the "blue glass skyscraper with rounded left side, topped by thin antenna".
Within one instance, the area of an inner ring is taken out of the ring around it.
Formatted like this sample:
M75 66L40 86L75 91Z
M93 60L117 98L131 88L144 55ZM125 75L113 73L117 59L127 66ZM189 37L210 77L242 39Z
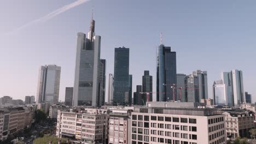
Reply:
M176 52L171 47L161 44L158 46L158 65L156 70L156 101L177 100L176 89Z

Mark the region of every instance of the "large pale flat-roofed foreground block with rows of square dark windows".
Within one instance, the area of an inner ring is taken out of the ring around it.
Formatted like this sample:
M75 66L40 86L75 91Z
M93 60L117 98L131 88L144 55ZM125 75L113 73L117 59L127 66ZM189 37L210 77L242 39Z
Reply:
M131 144L226 143L224 115L214 110L147 107L131 115Z

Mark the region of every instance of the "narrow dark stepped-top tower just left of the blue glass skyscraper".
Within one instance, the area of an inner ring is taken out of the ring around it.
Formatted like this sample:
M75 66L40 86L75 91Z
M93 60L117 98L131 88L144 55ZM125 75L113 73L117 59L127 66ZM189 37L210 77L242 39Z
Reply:
M144 75L142 76L142 92L149 93L149 101L153 101L153 79L149 75L149 70L144 70Z

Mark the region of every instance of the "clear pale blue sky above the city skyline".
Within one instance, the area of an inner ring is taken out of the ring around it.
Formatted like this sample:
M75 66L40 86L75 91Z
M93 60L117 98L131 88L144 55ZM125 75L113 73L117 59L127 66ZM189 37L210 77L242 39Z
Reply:
M0 97L25 100L25 95L36 95L40 65L56 64L61 66L63 101L65 87L73 87L77 33L88 33L93 8L95 33L102 37L101 58L107 61L106 84L114 71L114 47L125 46L130 48L133 92L142 85L144 70L153 76L155 91L156 47L162 32L162 43L177 52L177 73L207 70L210 98L220 73L238 69L245 91L256 101L256 1L74 2L0 2Z

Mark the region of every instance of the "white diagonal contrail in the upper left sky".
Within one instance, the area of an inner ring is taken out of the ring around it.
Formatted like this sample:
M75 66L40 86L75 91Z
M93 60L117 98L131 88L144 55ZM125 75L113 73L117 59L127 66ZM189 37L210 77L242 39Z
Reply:
M43 16L43 17L40 17L39 19L33 20L31 22L28 22L25 25L20 26L20 27L14 29L13 31L5 33L5 34L7 34L7 35L13 34L15 32L20 31L21 29L24 29L24 28L26 28L28 26L34 25L34 24L36 24L38 22L48 21L48 20L53 19L55 16L65 12L65 11L67 11L69 9L72 9L74 7L77 7L80 4L83 4L83 3L86 3L86 2L89 2L89 1L91 1L91 0L77 0L77 1L75 1L73 3L71 3L71 4L68 4L68 5L63 6L62 8L56 9L56 10L52 11L51 13L49 13L49 14Z

